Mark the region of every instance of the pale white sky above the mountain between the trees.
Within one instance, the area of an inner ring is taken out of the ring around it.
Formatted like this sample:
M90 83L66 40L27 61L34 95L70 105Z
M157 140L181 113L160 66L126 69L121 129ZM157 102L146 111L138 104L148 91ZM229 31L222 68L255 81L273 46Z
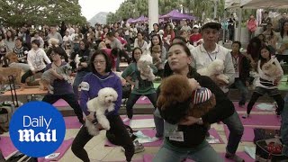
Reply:
M125 0L79 0L81 12L87 20L90 20L99 12L115 13L120 4Z

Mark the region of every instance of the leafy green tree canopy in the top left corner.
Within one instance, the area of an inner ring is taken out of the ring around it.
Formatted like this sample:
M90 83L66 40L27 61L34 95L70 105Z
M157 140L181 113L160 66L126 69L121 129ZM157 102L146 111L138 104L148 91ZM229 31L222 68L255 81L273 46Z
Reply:
M1 0L0 22L9 26L86 23L78 0Z

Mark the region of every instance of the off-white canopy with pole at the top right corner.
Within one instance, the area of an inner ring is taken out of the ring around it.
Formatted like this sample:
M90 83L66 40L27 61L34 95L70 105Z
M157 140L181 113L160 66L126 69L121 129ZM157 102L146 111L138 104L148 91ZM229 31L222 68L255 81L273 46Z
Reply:
M226 0L225 10L239 8L239 22L242 22L242 9L288 8L288 0ZM238 40L240 41L241 23L238 25Z

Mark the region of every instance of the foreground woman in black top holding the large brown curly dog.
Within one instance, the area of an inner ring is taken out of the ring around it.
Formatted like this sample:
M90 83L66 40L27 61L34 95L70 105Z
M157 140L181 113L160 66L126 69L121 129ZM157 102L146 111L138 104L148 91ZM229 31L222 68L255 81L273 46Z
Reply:
M201 86L209 88L211 93L215 94L217 104L210 112L202 116L202 118L183 116L182 121L176 125L173 125L173 121L170 121L170 123L169 121L165 121L164 144L157 152L156 157L154 157L153 161L155 162L176 162L182 161L185 158L205 162L223 161L206 141L205 135L208 129L205 126L207 124L203 123L215 123L226 119L234 112L234 110L231 109L233 103L229 101L229 98L210 77L200 76L196 70L190 66L193 61L191 56L190 50L183 42L173 43L168 50L168 62L164 76L171 76L173 74L187 76L190 78L193 86L198 86L199 83ZM160 89L158 88L157 94L159 93ZM165 110L161 110L161 108L157 108L157 110L159 110L163 118L173 118L176 115L175 113L183 114L183 112L179 111L180 108L177 109L176 106L177 104L174 105L174 108L177 111L174 113L167 113ZM176 133L167 133L170 128L175 128ZM175 138L173 138L173 136ZM176 140L179 138L180 140Z

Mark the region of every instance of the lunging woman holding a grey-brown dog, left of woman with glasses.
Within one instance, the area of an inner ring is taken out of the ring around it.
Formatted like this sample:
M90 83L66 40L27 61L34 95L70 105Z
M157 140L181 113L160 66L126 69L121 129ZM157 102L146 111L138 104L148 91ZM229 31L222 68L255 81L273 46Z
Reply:
M62 61L61 57L64 56L63 50L60 47L53 48L51 50L52 63L48 64L45 71L52 68L52 75L58 79L54 81L52 86L54 87L54 94L46 94L42 99L46 103L56 103L59 99L65 100L74 110L79 122L84 123L83 113L79 103L76 100L75 94L73 93L72 86L64 79L63 76L56 72L58 67L64 66L67 63Z

